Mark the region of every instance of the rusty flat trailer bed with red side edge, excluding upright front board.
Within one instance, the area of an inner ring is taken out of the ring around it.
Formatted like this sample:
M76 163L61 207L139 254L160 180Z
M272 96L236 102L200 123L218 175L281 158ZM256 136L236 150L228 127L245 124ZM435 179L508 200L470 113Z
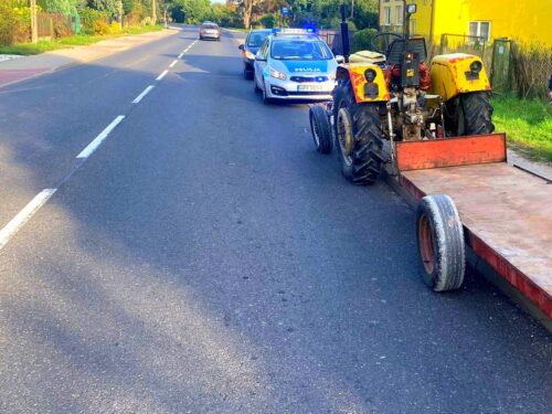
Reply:
M552 318L552 185L491 162L403 171L400 184L417 199L448 194L466 243L501 277Z

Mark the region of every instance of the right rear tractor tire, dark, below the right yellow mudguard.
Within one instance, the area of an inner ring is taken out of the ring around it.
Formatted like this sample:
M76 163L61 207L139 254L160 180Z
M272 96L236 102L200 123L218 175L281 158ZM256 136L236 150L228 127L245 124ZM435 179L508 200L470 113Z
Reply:
M495 131L492 106L488 92L473 92L460 95L460 116L458 135L485 135ZM460 128L461 126L461 128Z

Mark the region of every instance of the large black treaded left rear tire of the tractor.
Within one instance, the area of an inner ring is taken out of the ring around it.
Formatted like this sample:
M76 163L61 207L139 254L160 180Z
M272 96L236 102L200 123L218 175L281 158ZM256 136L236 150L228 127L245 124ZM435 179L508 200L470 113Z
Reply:
M339 110L346 108L350 115L352 137L351 153L338 135ZM380 124L379 104L358 104L350 81L338 84L333 92L335 146L341 172L354 184L372 184L381 176L386 157L383 155L383 132Z

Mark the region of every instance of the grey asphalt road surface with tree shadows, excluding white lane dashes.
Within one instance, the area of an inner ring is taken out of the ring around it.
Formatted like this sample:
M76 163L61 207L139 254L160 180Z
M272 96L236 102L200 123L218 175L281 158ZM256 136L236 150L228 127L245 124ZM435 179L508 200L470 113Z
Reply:
M237 35L0 89L0 227L57 190L0 250L0 412L550 413L545 330L428 291L413 211L263 105Z

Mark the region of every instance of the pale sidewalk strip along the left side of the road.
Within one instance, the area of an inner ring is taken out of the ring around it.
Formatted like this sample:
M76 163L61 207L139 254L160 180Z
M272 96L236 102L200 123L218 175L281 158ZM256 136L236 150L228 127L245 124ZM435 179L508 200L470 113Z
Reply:
M67 56L56 56L55 52L57 52L57 51L41 53L41 54L34 55L34 56L44 56L44 57L54 56L54 57L59 57L59 59L70 59L72 61L67 62L67 63L57 64L57 65L54 64L54 65L52 65L50 67L49 66L44 66L45 70L42 71L42 72L40 72L40 73L35 73L35 74L32 74L32 75L29 75L29 76L23 76L23 77L20 77L18 79L10 81L10 82L7 82L7 83L0 83L0 89L2 87L6 87L6 86L11 86L11 85L14 85L14 84L20 83L20 82L34 79L36 77L49 75L49 74L52 74L52 73L55 73L55 72L59 72L59 71L63 71L63 70L73 67L73 66L77 66L77 65L83 65L83 64L87 64L87 63L91 63L91 62L95 62L95 61L98 61L100 59L112 56L112 55L114 55L116 53L125 52L125 51L128 51L128 50L134 49L136 46L140 46L142 44L147 44L147 43L150 43L150 42L155 42L155 41L168 38L170 35L174 35L178 32L179 32L179 30L174 29L174 28L164 29L164 30L162 30L160 32L157 32L157 33L159 33L158 36L155 36L155 38L151 38L151 39L144 39L144 40L140 40L139 42L129 43L128 46L125 46L125 47L121 47L121 49L118 49L118 50L115 50L115 51L105 50L103 52L97 53L94 56L91 56L91 57L74 59L74 57L67 57ZM156 32L148 32L148 33L156 33ZM142 33L142 34L148 34L148 33ZM139 34L139 35L141 35L141 34ZM129 38L136 38L136 36L139 36L139 35L137 35L137 34L130 34L128 36L121 36L121 38L115 38L115 39L107 39L105 41L112 41L112 40L126 41ZM102 42L104 42L104 41L102 41ZM98 43L100 43L100 42L98 42ZM97 46L98 43L95 43L95 44L92 44L92 45L82 45L82 46L76 46L76 47L61 49L60 51L75 51L75 50L78 50L79 47L82 47L81 50L86 50L87 47ZM33 57L33 56L28 56L28 57ZM21 60L24 60L24 59L21 59ZM21 61L21 60L18 60L18 61ZM15 72L15 71L24 71L24 68L22 68L22 70L2 70L0 67L0 73L2 71L14 71Z

